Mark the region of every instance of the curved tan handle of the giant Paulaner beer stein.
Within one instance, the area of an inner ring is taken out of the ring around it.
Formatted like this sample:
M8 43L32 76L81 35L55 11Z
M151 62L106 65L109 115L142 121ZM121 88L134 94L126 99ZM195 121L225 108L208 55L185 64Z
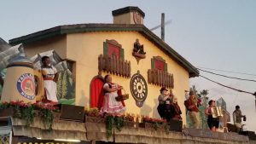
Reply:
M34 78L38 82L36 89L36 101L42 101L44 99L44 79L41 71L34 70Z

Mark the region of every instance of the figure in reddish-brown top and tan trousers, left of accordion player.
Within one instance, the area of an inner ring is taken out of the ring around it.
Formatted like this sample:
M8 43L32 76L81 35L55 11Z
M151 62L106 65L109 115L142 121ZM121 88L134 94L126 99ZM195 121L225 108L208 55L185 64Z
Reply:
M195 92L190 90L189 91L189 99L184 101L184 105L189 111L189 118L192 122L192 128L200 129L200 113L199 113L199 106L201 106L201 99L198 99L195 96Z

